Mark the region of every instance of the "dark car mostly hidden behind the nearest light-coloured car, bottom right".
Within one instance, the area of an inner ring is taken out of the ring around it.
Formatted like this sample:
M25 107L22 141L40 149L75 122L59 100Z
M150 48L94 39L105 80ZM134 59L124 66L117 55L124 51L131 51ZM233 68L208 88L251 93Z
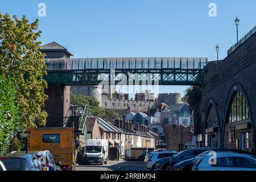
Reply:
M208 154L210 151L205 151L202 154L196 156L195 158L184 160L183 162L177 163L174 165L174 167L169 168L170 170L173 171L191 171L191 168L193 166L193 162L197 159L200 158L201 155L203 154ZM232 149L232 148L217 148L214 149L215 152L237 152L240 154L252 154L251 152L243 151L243 150L237 150L237 149Z

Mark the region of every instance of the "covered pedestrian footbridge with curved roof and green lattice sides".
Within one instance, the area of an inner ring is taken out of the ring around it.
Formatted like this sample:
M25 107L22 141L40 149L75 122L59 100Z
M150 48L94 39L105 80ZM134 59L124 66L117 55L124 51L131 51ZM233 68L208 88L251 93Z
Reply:
M45 59L48 84L200 85L205 57Z

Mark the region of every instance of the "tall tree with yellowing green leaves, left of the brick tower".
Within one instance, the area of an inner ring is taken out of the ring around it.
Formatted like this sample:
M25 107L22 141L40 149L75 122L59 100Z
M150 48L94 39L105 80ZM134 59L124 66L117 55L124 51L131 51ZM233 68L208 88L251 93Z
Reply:
M47 74L44 54L39 51L41 42L37 39L38 19L28 23L26 16L18 19L9 14L0 13L0 75L18 80L16 83L16 101L19 103L20 126L44 125L47 118L42 110L47 95L44 89Z

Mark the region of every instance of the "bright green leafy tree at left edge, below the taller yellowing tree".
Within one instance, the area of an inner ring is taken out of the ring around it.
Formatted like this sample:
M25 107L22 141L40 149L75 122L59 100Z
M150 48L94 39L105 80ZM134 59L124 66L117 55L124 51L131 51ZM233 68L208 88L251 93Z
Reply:
M10 141L20 131L15 85L13 79L0 76L0 152L9 148Z

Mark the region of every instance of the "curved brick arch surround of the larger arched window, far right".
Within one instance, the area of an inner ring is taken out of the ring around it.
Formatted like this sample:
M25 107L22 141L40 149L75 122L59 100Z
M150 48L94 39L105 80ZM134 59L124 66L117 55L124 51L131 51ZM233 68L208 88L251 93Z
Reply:
M242 84L237 83L237 84L234 84L232 86L232 88L229 90L228 98L226 99L225 110L224 110L224 121L223 121L223 128L222 128L222 142L223 142L223 144L225 144L225 141L224 141L225 127L226 127L226 124L228 123L230 104L232 104L233 98L237 94L237 92L242 93L242 96L246 101L246 104L247 104L248 109L249 109L249 117L250 117L250 121L251 121L251 127L253 129L253 130L251 130L251 132L253 134L253 137L255 137L255 133L254 133L255 127L254 127L254 121L253 121L253 115L252 115L250 102L249 102L248 96L247 96L247 94L245 92L245 89L243 88ZM255 150L255 143L253 143L253 145L254 145L253 148Z

